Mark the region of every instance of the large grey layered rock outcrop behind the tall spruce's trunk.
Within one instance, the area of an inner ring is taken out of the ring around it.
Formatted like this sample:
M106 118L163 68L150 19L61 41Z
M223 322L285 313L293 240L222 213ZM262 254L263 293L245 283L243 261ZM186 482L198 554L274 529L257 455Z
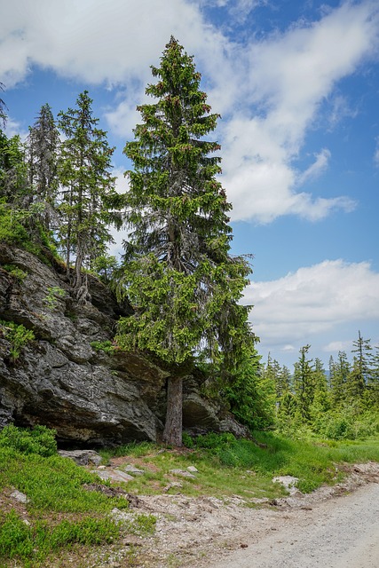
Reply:
M141 354L99 349L131 308L117 304L92 277L90 291L91 304L78 305L59 265L0 245L0 319L35 335L14 359L12 342L0 327L0 428L9 422L41 423L55 428L60 443L69 446L159 438L168 372ZM198 388L188 377L185 427L243 433L230 416L221 418Z

